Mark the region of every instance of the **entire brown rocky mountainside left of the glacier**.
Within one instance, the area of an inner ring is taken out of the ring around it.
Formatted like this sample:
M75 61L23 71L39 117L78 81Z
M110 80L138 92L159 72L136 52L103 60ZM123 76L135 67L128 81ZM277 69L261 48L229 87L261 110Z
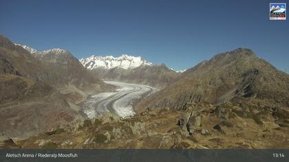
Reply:
M83 120L76 104L89 93L114 89L68 52L41 52L41 58L36 53L0 35L0 136L29 137L73 125Z

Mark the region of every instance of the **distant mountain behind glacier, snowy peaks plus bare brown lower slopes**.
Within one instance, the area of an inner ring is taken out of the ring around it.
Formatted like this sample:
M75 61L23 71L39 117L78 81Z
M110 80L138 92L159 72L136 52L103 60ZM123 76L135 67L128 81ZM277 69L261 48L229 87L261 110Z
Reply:
M169 69L166 65L156 65L142 57L91 56L82 58L80 61L84 67L90 69L96 77L102 80L147 84L160 89L180 76L180 73Z

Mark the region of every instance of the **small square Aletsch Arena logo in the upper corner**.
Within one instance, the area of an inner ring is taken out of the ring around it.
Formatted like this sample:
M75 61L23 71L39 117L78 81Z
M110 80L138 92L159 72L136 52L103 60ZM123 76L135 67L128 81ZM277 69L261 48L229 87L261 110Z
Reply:
M270 20L286 20L286 3L270 3Z

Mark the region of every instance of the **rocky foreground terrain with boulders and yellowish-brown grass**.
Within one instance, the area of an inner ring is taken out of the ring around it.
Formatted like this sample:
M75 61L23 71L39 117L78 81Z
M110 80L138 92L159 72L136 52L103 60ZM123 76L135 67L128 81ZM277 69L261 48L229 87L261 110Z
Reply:
M104 113L74 129L55 129L2 148L289 148L289 111L253 105L187 103L127 119Z

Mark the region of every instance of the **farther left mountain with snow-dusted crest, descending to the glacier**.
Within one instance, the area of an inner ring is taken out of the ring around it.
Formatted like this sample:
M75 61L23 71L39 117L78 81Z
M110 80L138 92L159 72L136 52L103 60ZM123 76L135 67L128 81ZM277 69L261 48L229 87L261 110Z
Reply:
M77 89L88 91L92 89L94 84L98 84L99 91L102 91L101 86L103 89L111 89L109 85L104 84L87 71L78 59L65 49L37 51L26 45L16 45L27 49L34 58L41 62L41 65L50 72L47 81L54 84L54 86L72 85Z

